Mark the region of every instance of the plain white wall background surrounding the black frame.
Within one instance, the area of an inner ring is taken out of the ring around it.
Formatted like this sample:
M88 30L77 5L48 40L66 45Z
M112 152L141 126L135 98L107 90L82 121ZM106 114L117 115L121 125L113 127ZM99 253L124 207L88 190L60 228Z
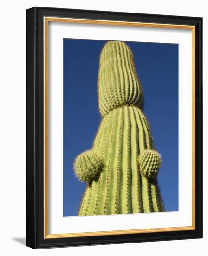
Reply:
M34 6L203 17L204 70L208 69L205 0L30 0L1 3L0 14L0 253L2 255L206 255L208 186L204 186L204 238L33 250L26 243L26 9ZM204 72L204 131L208 130L208 73ZM204 145L208 135L204 133ZM204 159L208 149L204 147ZM204 181L208 179L204 161ZM206 182L205 182L206 185Z

